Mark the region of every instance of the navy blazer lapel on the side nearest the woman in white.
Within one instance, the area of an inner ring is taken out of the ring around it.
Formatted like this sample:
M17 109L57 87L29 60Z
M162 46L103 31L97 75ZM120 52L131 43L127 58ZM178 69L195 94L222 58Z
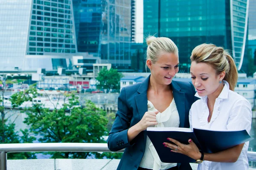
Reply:
M180 86L172 80L172 93L176 103L176 107L180 116L180 127L184 127L185 123L185 94L181 92Z

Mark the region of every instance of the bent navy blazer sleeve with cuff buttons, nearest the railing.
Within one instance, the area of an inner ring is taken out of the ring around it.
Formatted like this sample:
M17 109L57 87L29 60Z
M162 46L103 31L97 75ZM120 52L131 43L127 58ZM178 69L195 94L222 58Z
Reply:
M114 152L131 146L127 132L130 127L132 112L126 103L125 88L122 88L120 92L117 108L116 119L108 136L108 149Z

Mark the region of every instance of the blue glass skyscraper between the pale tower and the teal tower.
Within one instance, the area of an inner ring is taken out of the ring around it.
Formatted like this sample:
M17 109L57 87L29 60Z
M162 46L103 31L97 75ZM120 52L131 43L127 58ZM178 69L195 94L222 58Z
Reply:
M78 52L130 69L131 0L73 0Z

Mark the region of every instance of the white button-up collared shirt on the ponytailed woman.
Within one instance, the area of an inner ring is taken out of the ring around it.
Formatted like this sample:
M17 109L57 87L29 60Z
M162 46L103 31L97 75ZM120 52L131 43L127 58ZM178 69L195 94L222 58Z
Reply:
M191 106L189 112L190 127L209 130L246 130L250 132L252 111L250 103L243 96L229 89L224 81L224 88L215 100L212 118L208 123L209 109L207 96L201 98ZM198 164L198 170L248 170L247 150L249 142L244 144L239 159L235 163L203 161Z

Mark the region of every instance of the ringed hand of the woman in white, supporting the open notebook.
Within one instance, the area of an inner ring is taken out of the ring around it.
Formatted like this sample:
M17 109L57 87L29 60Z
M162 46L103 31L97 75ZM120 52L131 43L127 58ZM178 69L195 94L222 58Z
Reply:
M195 159L195 160L201 158L201 153L200 153L198 147L196 146L196 144L192 141L192 139L189 139L189 144L182 144L172 138L167 138L167 139L169 141L175 143L175 144L171 144L168 142L163 143L165 145L165 147L169 147L172 149L171 152L182 153L182 154L189 156L190 158Z

